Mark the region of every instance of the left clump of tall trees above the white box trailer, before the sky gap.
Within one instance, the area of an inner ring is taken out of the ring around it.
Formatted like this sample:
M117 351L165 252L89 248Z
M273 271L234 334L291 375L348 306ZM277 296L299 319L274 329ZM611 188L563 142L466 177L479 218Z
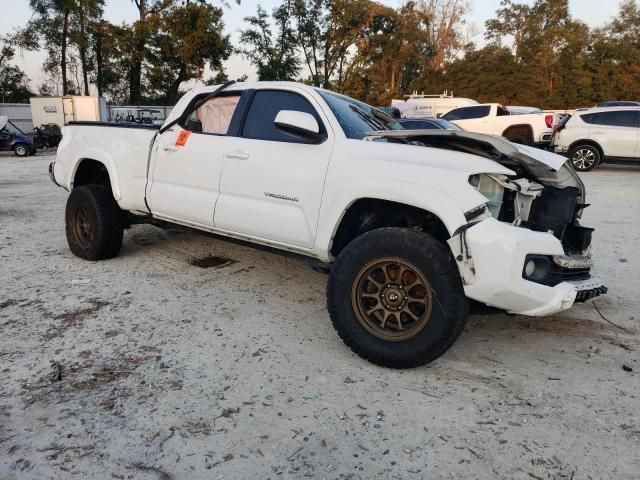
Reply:
M42 48L47 53L46 80L38 86L39 94L88 95L93 85L112 101L133 104L174 103L180 84L201 79L207 65L223 73L222 63L233 48L223 33L220 5L197 0L132 1L137 20L114 25L103 17L105 0L29 0L33 11L29 24L0 37L2 48L10 52L5 63L20 48ZM4 70L0 63L0 88ZM14 80L22 79L20 87L14 87L16 95L5 93L5 101L20 101L14 97L27 88L20 73L13 72Z

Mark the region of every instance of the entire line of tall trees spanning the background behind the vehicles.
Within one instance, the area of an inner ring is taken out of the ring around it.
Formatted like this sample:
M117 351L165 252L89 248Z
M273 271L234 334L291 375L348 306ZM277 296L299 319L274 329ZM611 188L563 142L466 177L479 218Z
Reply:
M233 6L132 1L138 19L113 25L103 18L104 0L30 0L29 25L0 38L5 97L6 84L15 96L29 90L11 63L16 51L39 47L48 53L39 93L86 93L94 85L113 101L134 104L174 103L186 80L226 80L223 62L232 53L261 80L304 81L376 105L445 89L544 108L640 100L635 0L599 28L573 18L568 0L503 0L480 45L470 41L465 0L407 1L397 9L372 0L283 0L245 18L238 45L223 33L224 8ZM206 66L213 77L203 78Z

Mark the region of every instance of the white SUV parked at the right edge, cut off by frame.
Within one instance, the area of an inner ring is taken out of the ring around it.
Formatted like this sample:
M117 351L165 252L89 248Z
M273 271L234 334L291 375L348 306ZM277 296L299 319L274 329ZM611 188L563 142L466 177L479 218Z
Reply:
M640 161L640 107L582 110L560 122L551 145L579 172L599 163Z

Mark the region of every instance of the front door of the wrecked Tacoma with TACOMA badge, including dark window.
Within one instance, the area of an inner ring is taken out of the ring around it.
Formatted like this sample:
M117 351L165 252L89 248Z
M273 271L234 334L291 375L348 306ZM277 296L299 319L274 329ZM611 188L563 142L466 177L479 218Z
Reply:
M282 110L313 115L323 140L310 144L276 128ZM216 228L313 247L333 148L333 132L318 112L313 98L293 88L255 92L241 138L224 152Z

